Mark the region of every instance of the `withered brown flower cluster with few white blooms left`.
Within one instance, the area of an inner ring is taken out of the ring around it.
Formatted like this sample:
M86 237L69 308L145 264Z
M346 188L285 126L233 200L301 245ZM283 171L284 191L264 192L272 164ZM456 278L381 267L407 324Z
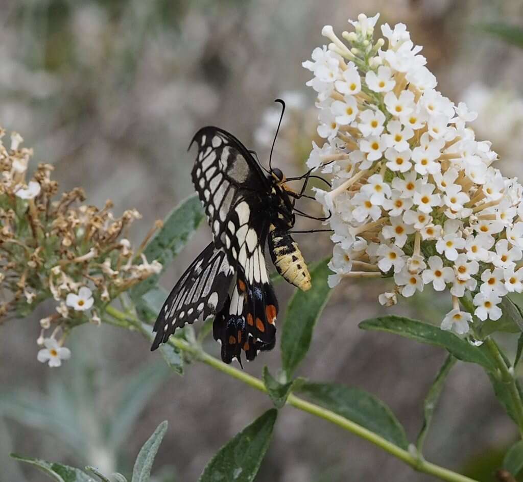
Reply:
M120 218L109 200L101 209L83 204L81 187L58 194L53 166L40 163L28 175L32 149L21 147L18 133L3 140L0 128L0 324L25 318L42 301L55 310L40 320L38 360L60 366L70 356L63 347L71 328L99 324L105 307L120 293L159 273L162 265L148 261L126 238L135 209ZM50 331L50 333L47 333Z

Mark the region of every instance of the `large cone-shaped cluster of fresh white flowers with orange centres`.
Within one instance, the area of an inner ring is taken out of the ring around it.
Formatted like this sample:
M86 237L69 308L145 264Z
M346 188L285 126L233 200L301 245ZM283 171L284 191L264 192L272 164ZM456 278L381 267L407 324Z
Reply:
M303 63L327 139L313 143L308 166L332 175L330 192L316 190L334 231L329 285L393 277L383 305L428 284L449 289L453 309L441 327L464 334L467 292L477 318L497 320L502 297L523 291L523 189L492 167L490 142L466 125L476 114L436 90L405 25L385 23L386 42L375 41L377 20L349 20L348 44L325 26L332 43Z

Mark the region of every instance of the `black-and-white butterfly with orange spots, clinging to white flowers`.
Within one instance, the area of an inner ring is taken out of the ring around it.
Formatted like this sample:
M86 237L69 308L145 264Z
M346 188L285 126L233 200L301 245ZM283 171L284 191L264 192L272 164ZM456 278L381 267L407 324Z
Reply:
M201 128L189 149L195 143L192 182L213 240L163 304L151 350L167 342L176 328L214 315L213 336L221 343L222 360L236 358L241 365L242 351L253 360L276 343L278 301L265 263L266 243L283 278L302 290L311 287L308 267L290 233L295 199L304 196L309 177L300 193L293 191L286 182L303 176L286 179L280 169L270 168L270 161L265 174L253 151L218 127Z

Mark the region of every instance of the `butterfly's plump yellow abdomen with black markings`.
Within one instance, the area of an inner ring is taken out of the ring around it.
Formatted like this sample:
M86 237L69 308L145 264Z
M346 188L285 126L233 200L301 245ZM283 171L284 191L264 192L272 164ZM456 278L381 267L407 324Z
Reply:
M300 249L289 231L269 227L269 251L276 271L291 285L307 291L311 287L311 275Z

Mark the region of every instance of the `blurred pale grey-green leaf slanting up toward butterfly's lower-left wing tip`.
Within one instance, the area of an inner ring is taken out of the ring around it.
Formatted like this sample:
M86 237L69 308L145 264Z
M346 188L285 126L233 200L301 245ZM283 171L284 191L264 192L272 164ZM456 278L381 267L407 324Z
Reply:
M110 446L118 447L128 438L134 422L169 374L170 371L163 362L155 361L123 381L124 390L110 419Z

